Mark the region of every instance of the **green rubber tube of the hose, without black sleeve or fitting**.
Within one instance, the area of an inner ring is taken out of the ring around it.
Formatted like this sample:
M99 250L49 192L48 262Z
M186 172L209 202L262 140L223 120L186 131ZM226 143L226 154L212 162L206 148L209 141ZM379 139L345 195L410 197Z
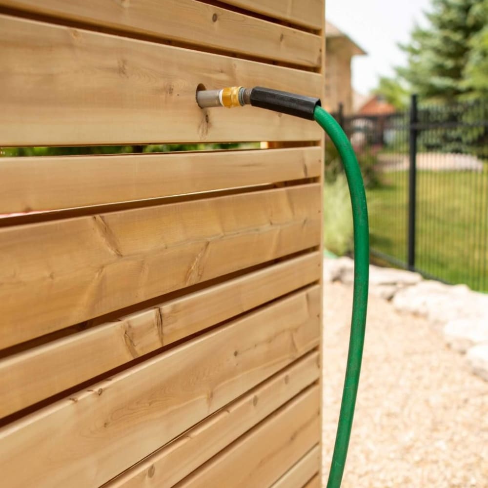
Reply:
M339 488L346 465L347 448L351 436L363 359L369 281L369 230L363 177L351 143L341 126L322 107L315 107L314 119L330 137L343 161L351 196L354 225L354 295L351 335L349 338L341 413L339 415L334 453L327 481L327 488Z

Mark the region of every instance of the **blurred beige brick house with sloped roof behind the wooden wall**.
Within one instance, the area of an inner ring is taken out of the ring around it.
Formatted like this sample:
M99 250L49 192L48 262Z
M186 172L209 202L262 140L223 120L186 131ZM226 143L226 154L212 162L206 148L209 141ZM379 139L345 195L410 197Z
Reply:
M325 108L335 112L339 103L344 113L353 112L351 60L366 52L335 25L325 21Z

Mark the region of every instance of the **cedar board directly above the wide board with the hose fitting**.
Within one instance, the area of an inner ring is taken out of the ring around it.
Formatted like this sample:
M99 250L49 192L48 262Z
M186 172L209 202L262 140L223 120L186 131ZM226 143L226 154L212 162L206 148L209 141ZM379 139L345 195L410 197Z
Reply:
M273 61L318 66L320 36L195 0L1 0L1 5Z

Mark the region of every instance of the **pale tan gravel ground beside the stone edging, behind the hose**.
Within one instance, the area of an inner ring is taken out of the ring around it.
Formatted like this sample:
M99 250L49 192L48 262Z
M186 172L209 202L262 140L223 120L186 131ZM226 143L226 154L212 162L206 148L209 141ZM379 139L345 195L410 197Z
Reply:
M324 472L344 381L352 286L325 283ZM324 486L325 486L324 480ZM488 383L440 330L370 297L342 488L488 488Z

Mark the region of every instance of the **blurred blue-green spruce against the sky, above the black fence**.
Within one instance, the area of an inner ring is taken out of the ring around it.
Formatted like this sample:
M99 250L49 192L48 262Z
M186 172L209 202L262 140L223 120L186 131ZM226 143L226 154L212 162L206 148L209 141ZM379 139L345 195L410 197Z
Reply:
M474 9L480 0L433 0L427 13L430 26L416 26L411 42L400 47L408 65L397 68L422 99L443 102L468 95L474 87L464 79L473 38L486 26L486 17Z

